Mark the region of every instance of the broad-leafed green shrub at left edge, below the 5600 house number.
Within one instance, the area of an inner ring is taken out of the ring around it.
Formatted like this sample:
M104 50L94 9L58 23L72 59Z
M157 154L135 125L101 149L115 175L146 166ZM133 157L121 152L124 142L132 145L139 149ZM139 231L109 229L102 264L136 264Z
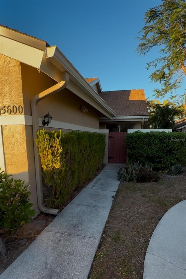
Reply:
M0 168L1 171L1 168ZM29 202L30 192L24 181L13 180L4 171L0 172L0 254L6 256L5 242L13 237L17 230L28 223L35 214Z

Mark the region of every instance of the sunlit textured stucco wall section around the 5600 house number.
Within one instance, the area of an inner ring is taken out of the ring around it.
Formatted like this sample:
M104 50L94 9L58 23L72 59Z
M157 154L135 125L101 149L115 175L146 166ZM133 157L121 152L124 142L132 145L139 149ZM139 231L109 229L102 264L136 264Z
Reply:
M31 133L28 134L28 126L14 125L14 113L10 115L7 113L7 106L12 108L13 105L17 107L21 105L23 107L21 114L24 114L20 62L0 55L0 72L0 104L1 107L5 106L7 118L12 119L11 125L1 125L5 169L14 179L24 180L25 185L30 185L28 188L31 191L30 199L34 203L33 208L37 209L34 164L30 159L33 159L32 136ZM20 113L17 112L15 115ZM32 126L29 126L28 130L32 131Z

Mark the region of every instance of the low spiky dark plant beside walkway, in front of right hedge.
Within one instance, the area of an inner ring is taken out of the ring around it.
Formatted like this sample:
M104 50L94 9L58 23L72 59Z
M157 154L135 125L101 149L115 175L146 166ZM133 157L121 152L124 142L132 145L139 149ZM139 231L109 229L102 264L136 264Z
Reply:
M151 166L142 165L139 162L134 164L126 164L120 167L118 171L119 181L121 182L156 182L159 180L159 175L153 171Z

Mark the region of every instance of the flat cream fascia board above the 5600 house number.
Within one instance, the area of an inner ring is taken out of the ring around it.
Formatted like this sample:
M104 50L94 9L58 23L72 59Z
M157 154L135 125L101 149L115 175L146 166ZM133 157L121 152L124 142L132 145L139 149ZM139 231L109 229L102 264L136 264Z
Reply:
M0 53L22 63L40 68L44 51L21 42L0 36Z

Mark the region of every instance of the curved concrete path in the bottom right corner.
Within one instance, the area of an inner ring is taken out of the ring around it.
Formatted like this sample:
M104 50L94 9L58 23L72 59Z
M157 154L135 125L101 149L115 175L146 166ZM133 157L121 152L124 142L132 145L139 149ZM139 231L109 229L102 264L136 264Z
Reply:
M186 200L173 206L155 228L144 261L143 279L186 278Z

